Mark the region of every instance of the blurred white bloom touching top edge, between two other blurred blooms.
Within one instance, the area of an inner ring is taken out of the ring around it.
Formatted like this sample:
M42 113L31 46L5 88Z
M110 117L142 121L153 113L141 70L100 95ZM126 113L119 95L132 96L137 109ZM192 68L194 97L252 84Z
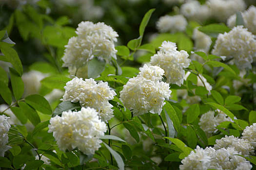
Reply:
M180 13L188 19L203 22L210 17L210 9L206 4L201 5L198 0L188 0L180 7Z

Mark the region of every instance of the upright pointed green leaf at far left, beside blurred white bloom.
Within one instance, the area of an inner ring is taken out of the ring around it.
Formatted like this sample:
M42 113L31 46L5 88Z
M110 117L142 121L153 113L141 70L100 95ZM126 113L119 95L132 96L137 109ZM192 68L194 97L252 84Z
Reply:
M20 75L13 68L9 68L9 69L11 74L11 84L12 84L13 94L15 99L18 101L23 95L24 83Z

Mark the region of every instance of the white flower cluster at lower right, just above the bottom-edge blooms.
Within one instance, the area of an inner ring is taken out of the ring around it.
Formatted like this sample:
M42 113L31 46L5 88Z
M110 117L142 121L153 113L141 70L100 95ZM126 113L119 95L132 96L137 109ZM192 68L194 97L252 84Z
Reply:
M255 147L251 146L248 140L234 137L233 135L217 139L216 144L214 145L214 149L216 150L231 147L234 148L238 153L241 153L242 155L255 155Z

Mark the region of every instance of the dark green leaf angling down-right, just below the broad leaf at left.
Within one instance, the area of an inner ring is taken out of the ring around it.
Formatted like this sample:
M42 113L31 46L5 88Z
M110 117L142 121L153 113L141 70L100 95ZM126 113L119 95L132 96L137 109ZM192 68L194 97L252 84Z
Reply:
M26 117L31 121L31 123L34 126L36 126L38 123L40 123L41 120L40 120L36 110L34 110L29 105L27 105L25 102L19 102L18 104L19 104L22 112L26 115Z

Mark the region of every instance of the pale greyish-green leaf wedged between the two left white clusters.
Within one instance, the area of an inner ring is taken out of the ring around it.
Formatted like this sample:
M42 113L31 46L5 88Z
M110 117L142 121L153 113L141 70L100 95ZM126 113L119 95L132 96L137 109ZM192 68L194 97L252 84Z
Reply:
M78 109L78 108L81 108L79 102L76 102L76 103L73 103L73 102L70 102L70 101L61 102L61 103L59 103L59 105L53 111L53 116L52 117L55 117L56 115L59 115L64 111L74 110L74 109Z

